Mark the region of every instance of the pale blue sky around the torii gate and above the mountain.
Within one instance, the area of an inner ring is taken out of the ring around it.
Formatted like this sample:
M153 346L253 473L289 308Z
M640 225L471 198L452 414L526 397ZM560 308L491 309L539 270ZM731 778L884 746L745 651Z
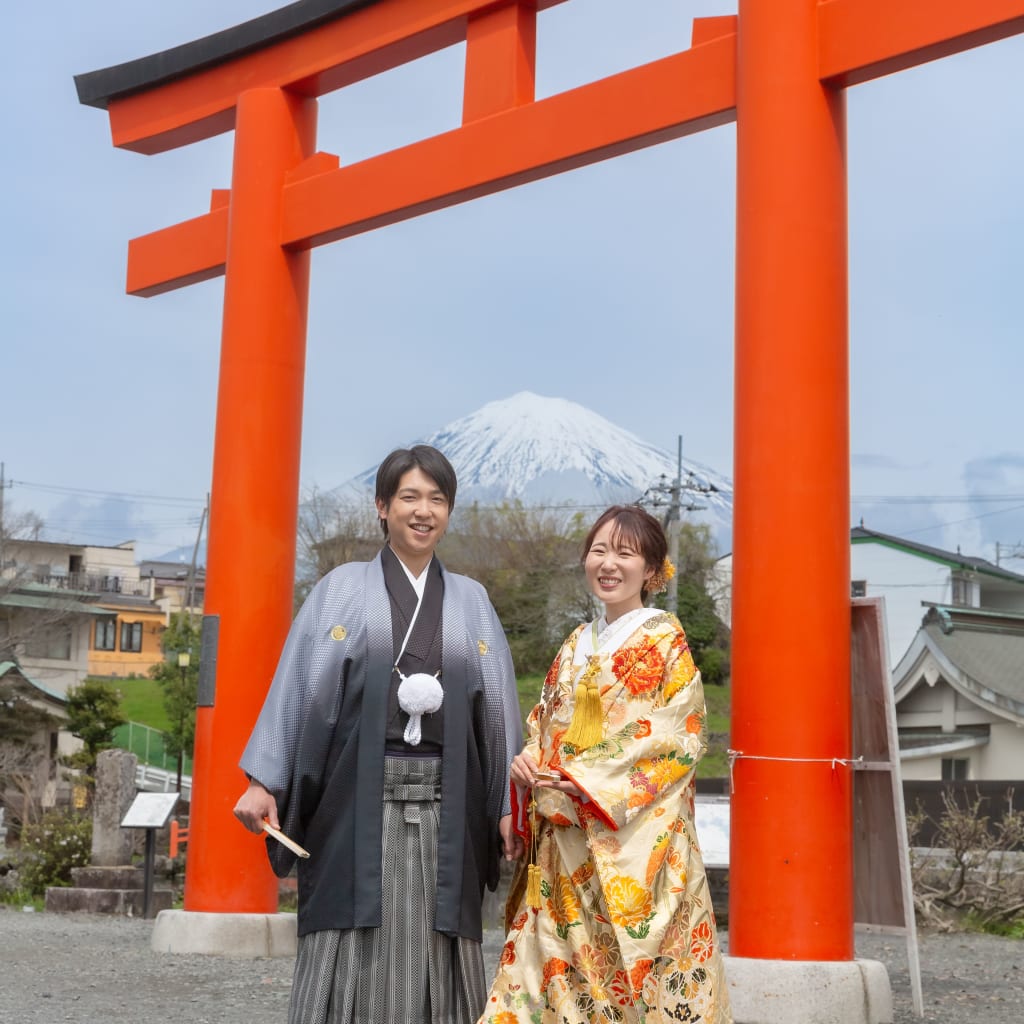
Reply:
M0 461L5 501L50 539L190 548L222 282L126 296L126 249L230 179L230 135L115 150L73 76L276 6L8 12ZM735 5L623 9L571 0L541 15L540 95L685 48L694 15ZM453 48L325 97L318 147L351 162L455 127L461 76ZM1020 37L848 95L851 523L989 558L1024 541L1022 95ZM520 390L670 452L682 434L731 476L734 159L727 126L315 250L303 485L334 486Z

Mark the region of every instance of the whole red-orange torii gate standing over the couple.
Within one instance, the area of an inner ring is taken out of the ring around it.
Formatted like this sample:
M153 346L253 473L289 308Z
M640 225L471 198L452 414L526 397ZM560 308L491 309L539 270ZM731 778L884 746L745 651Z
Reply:
M230 809L291 620L309 250L736 120L730 951L850 959L843 90L1024 32L1024 0L738 0L737 16L694 20L688 50L536 100L537 12L560 2L302 0L76 79L123 148L236 133L230 189L128 254L135 295L225 276L206 595L219 642L185 908L276 908ZM463 40L460 128L344 167L314 152L317 96Z

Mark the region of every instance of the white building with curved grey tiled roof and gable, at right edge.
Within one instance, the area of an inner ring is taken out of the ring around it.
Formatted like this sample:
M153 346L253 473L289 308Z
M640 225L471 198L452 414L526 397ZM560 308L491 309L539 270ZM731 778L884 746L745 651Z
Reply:
M893 671L906 779L1024 779L1024 613L932 605Z

